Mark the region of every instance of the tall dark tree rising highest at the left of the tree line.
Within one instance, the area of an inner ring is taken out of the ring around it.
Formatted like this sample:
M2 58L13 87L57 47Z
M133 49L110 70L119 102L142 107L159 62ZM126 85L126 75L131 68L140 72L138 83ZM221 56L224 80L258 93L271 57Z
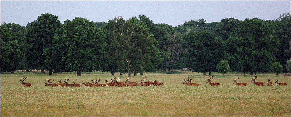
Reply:
M60 25L58 16L49 13L41 14L36 21L30 23L27 32L27 41L32 46L29 56L27 56L30 68L41 69L41 73L45 73L44 70L48 70L49 75L52 75L54 65L52 61L49 61L51 55L44 54L44 49L52 50L55 30Z

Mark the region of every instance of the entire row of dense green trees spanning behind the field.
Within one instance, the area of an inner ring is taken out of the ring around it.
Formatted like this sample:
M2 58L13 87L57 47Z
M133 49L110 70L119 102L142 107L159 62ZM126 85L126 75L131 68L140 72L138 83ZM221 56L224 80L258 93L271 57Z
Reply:
M43 13L20 26L1 24L1 73L143 72L188 68L212 71L290 72L290 12L274 20L190 20L172 27L145 15L108 22L75 17L62 24Z

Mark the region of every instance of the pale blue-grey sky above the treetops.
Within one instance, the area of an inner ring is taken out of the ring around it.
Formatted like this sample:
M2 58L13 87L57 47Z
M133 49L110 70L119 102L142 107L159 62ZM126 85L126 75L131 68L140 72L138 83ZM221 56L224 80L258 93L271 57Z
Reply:
M221 19L278 19L290 12L291 1L7 1L1 0L0 23L26 26L43 13L58 16L62 24L75 17L93 22L108 22L115 17L130 19L145 15L155 24L173 27L204 19L206 23Z

